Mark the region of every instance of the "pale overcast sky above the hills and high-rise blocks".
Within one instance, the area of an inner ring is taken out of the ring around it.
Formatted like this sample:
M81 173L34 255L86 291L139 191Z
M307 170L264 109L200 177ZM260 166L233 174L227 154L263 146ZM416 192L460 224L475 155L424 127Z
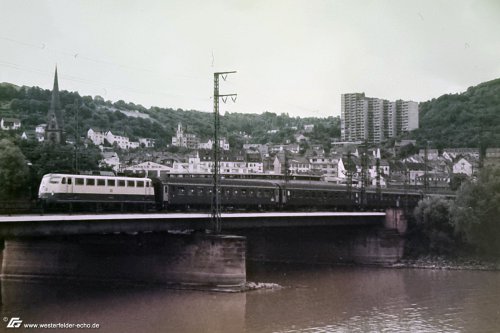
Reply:
M221 113L340 115L500 77L498 0L0 0L0 82Z

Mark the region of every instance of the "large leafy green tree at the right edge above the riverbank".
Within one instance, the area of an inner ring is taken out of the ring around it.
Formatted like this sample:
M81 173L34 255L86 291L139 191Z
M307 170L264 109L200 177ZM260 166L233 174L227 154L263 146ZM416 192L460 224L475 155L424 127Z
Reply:
M500 256L500 168L484 168L457 192L451 210L456 232L478 254Z

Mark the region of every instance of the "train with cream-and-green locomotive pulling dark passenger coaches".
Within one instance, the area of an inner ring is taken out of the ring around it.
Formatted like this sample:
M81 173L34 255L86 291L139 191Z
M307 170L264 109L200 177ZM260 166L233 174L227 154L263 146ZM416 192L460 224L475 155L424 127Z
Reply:
M38 197L44 207L142 208L156 211L208 210L213 184L209 178L140 178L47 174ZM346 186L314 181L221 179L219 202L231 210L383 210L414 207L420 192Z

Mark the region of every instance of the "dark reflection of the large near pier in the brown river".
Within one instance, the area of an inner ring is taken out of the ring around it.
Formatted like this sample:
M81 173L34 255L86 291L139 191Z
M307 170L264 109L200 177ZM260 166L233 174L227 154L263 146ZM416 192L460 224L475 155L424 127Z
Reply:
M2 317L25 323L98 323L99 332L125 333L244 331L245 293L13 281L2 288Z

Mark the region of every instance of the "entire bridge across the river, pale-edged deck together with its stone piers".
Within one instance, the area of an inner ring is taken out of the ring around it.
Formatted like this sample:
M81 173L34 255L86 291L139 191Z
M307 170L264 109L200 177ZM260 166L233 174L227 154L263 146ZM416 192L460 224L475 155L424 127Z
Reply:
M0 216L1 278L158 283L239 291L246 261L384 264L402 255L400 209L385 212Z

